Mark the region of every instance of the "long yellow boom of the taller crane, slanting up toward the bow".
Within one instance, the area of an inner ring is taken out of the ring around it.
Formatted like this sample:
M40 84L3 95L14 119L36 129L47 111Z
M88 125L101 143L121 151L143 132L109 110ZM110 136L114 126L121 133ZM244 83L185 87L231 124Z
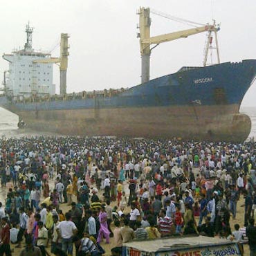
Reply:
M176 40L179 38L185 38L190 35L196 35L199 33L203 33L208 30L215 30L214 26L202 26L198 28L190 28L187 30L181 30L174 33L168 33L165 35L158 35L156 37L149 37L148 39L141 39L141 44L161 44L163 42L170 42L172 40Z

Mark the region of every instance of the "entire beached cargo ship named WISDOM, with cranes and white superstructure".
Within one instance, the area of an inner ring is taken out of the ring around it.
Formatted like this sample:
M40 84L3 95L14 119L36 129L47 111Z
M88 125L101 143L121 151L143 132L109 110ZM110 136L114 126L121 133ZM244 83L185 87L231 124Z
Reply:
M246 140L251 122L239 108L255 81L256 60L208 65L207 53L213 48L212 34L217 39L218 26L207 24L150 37L149 13L149 8L138 12L141 84L67 94L68 35L62 34L60 57L54 58L33 50L33 28L28 25L24 49L3 55L9 71L5 72L0 106L19 116L20 127L62 135ZM202 67L185 66L149 80L152 45L203 32L208 33L208 42ZM219 61L218 51L217 57ZM53 84L54 63L60 64L60 95L55 94Z

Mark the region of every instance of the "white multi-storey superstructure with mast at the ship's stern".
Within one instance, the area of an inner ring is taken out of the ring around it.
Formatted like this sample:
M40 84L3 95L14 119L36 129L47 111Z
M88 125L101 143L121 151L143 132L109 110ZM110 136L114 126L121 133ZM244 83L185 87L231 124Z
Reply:
M23 50L14 51L9 55L3 54L3 59L9 62L9 71L5 73L3 81L6 94L19 99L55 95L53 63L37 62L50 59L51 54L34 51L33 28L26 26L26 33L27 42Z

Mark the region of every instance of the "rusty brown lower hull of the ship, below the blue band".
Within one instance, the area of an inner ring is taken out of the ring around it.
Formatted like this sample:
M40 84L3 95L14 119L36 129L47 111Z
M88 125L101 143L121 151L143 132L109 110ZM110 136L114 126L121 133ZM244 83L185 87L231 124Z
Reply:
M16 111L29 128L64 135L241 142L251 122L239 105Z

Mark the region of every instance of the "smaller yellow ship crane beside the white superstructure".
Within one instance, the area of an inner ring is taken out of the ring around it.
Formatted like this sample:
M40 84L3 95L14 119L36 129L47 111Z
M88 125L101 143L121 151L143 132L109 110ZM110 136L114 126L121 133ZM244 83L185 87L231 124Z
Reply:
M55 63L60 66L60 95L66 95L66 70L68 68L68 34L62 33L60 40L60 57L34 60L33 63Z

